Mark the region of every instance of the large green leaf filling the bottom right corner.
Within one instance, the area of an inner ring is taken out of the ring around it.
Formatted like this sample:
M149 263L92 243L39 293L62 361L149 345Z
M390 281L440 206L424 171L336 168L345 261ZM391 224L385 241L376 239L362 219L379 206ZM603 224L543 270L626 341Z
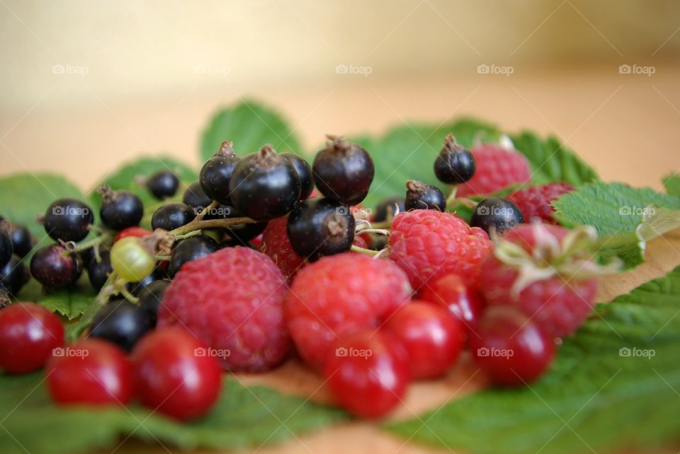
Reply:
M538 383L485 390L387 429L494 454L612 452L677 441L679 301L680 267L597 305Z

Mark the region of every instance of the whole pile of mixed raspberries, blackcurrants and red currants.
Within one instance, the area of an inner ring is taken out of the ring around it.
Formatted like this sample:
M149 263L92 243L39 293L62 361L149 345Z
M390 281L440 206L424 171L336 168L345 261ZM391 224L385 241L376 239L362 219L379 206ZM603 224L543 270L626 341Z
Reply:
M498 385L545 373L556 339L591 312L604 271L589 252L593 231L553 217L550 202L574 188L523 188L521 153L467 150L449 134L433 165L446 194L409 180L404 197L370 211L370 155L327 139L311 165L271 145L239 157L225 141L181 197L171 172L140 179L162 201L152 230L127 190L100 188L96 226L88 204L53 202L42 224L55 243L32 255L30 274L50 292L86 270L98 310L64 344L57 316L11 304L0 311L0 368L45 367L60 404L136 397L177 419L209 411L220 369L267 371L293 351L363 417L390 412L412 380L446 375L466 349ZM473 195L482 198L463 197ZM474 206L470 223L455 215L460 204ZM16 296L32 240L3 226L2 284Z

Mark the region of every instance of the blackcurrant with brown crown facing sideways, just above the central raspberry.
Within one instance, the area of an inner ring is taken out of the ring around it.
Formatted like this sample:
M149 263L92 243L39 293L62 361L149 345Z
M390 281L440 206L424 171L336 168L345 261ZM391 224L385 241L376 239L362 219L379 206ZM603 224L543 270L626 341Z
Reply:
M300 202L288 216L288 238L297 255L310 262L348 251L354 241L354 216L348 206L326 198Z

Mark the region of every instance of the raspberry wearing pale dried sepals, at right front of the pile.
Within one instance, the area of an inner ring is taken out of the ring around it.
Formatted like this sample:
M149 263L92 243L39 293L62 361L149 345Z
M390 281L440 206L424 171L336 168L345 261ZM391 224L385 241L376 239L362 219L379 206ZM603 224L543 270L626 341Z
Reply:
M569 266L570 260L560 257L560 265L551 262L560 254L563 249L560 241L568 234L571 233L566 228L541 223L522 224L506 233L503 240L519 245L529 256L536 257L533 259L536 264L528 262L529 268L523 269L516 260L514 264L502 262L497 257L499 248L502 248L502 243L499 243L496 254L489 257L482 267L482 296L487 304L514 305L553 337L563 337L577 330L593 307L597 279L579 275L582 270L595 266L589 255L578 257L580 262L577 265L582 266L571 264L570 269L577 268L573 276L560 274L560 267ZM531 267L543 272L552 269L555 274L529 281L521 290L514 289L520 270L526 272Z

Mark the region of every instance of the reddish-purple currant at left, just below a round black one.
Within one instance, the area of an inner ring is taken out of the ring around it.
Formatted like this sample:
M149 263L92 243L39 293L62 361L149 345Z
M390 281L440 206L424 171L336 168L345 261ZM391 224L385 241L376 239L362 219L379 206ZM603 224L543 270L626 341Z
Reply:
M62 245L41 248L30 259L30 275L45 289L72 284L83 271L78 255L68 252Z

